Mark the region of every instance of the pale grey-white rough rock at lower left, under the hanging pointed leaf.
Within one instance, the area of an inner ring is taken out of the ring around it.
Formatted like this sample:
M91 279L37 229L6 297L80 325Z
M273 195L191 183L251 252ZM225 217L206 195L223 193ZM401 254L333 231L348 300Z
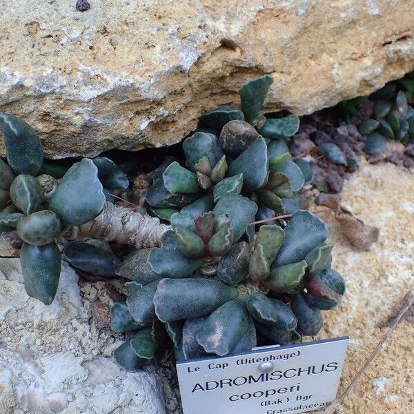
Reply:
M154 368L126 373L109 357L121 340L94 315L99 284L80 291L77 279L63 264L43 306L26 295L19 259L0 259L0 413L165 414Z

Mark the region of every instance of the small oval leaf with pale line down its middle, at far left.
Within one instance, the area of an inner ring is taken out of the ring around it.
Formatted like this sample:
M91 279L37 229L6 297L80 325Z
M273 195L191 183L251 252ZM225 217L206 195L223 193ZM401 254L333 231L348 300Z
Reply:
M14 206L29 215L37 211L43 201L43 190L31 175L18 175L10 186L10 199Z

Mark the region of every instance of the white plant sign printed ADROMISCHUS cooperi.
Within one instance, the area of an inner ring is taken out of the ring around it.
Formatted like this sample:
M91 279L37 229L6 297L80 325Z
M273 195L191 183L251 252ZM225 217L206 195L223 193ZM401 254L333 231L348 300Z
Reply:
M177 363L184 414L303 413L335 400L348 337Z

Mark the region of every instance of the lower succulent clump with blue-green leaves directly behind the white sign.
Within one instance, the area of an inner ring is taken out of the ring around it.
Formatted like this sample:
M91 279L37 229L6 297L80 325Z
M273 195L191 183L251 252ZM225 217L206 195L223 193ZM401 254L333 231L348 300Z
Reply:
M227 193L208 213L175 213L161 248L137 250L119 266L117 274L131 282L126 303L112 308L112 327L145 337L139 346L129 339L117 349L124 368L134 371L166 346L165 335L161 342L155 336L163 324L177 359L317 335L322 310L345 292L344 279L331 269L328 230L297 210L286 228L264 225L254 242L239 241L256 209L250 199Z

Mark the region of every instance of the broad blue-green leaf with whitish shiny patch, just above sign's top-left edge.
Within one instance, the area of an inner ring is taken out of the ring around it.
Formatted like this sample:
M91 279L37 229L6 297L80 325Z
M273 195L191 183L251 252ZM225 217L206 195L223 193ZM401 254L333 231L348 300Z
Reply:
M227 355L246 334L249 322L244 300L230 300L206 319L197 332L197 342L208 353Z

